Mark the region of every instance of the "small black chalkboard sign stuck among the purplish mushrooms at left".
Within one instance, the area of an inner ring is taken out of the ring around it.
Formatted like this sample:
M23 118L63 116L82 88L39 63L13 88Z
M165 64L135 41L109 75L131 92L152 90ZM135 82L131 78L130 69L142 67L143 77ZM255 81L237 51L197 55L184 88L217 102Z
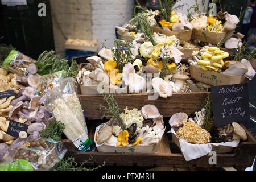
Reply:
M28 125L10 120L6 134L18 138L20 131L27 132L27 127Z

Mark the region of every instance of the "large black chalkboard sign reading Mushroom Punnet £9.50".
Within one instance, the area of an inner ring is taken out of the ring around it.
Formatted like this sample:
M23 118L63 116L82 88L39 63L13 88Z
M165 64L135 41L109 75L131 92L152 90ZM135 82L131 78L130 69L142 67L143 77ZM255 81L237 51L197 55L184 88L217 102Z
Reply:
M215 126L249 119L249 93L247 84L212 87Z

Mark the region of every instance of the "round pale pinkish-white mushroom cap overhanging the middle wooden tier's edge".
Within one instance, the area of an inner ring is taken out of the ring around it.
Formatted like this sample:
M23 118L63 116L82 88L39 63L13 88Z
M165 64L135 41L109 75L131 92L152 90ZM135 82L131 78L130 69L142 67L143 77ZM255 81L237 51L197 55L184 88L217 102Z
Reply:
M159 93L160 97L167 98L168 96L172 96L172 86L162 78L153 78L152 86L154 88L154 92Z

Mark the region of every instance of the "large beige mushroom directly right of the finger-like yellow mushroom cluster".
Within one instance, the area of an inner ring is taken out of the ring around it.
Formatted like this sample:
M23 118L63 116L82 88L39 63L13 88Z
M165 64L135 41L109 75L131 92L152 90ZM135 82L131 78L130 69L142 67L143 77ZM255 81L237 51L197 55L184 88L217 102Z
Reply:
M223 73L227 75L243 75L248 72L246 66L239 61L229 61L226 67L228 67L228 69Z

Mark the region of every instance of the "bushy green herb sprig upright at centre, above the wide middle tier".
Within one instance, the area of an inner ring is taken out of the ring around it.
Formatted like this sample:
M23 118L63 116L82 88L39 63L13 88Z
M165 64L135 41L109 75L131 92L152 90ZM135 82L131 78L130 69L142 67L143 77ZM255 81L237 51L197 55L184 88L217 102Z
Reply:
M122 73L123 67L129 60L133 59L131 53L131 48L134 48L131 44L126 42L124 39L116 39L114 40L115 48L112 48L112 55L114 61L117 63L117 69Z

